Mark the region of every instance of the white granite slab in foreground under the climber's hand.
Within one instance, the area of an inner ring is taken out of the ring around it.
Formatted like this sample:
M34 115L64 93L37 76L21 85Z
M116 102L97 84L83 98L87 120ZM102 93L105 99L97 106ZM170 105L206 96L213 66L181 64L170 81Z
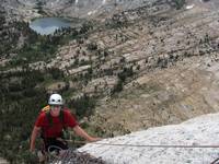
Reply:
M219 148L214 148L218 147L219 142L218 126L219 114L209 114L180 125L150 128L104 139L89 143L79 151L102 157L108 164L210 163L219 157ZM183 145L185 148L178 148ZM212 145L212 148L201 148L201 145Z

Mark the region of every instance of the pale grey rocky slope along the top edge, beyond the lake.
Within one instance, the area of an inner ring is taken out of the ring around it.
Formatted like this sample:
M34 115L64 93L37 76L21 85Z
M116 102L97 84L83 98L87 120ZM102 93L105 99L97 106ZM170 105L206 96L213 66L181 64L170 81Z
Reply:
M135 9L154 1L157 0L9 0L3 1L2 7L7 9L11 16L23 17L24 20L41 16L38 11L42 10L48 15L96 17L101 14L110 16L118 11Z

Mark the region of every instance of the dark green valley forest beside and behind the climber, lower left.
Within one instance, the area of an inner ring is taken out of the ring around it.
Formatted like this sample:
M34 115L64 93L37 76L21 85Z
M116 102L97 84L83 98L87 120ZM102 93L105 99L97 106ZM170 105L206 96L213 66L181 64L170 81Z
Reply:
M34 156L27 151L28 141L34 121L47 104L48 94L41 84L49 77L50 80L64 79L57 70L41 72L30 68L1 75L0 155L11 163L33 163ZM65 95L68 90L61 92ZM74 101L67 99L67 106L76 108L77 117L82 118L92 114L95 99L84 95Z

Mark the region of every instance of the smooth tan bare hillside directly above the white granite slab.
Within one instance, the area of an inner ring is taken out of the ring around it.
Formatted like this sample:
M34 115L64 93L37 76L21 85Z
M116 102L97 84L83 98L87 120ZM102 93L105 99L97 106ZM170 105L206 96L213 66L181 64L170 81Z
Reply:
M88 124L114 137L218 112L218 61L191 59L126 84L124 91L95 107Z

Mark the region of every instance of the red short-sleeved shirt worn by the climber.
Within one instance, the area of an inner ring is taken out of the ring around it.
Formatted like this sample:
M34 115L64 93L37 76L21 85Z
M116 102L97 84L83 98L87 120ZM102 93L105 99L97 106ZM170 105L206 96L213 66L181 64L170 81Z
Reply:
M64 109L64 120L60 120L60 117L49 116L53 120L53 124L49 122L46 113L41 113L36 119L35 126L43 129L43 136L45 138L57 138L60 137L64 127L76 127L78 122L76 118L71 115L69 109Z

